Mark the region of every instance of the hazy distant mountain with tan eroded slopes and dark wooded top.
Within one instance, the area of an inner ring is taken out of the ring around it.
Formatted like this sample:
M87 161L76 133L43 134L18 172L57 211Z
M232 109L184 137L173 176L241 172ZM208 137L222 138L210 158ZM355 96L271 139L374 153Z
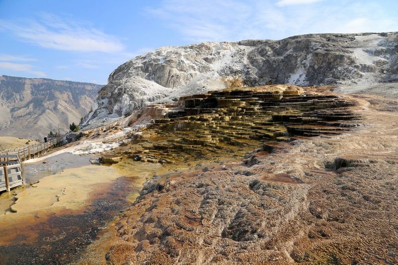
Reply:
M102 86L90 83L0 77L0 136L42 139L50 130L79 123Z

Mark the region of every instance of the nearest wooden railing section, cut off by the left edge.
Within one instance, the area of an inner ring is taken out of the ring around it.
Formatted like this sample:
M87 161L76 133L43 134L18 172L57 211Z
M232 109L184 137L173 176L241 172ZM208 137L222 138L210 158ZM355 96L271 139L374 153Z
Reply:
M0 155L0 191L26 183L23 165L18 155Z

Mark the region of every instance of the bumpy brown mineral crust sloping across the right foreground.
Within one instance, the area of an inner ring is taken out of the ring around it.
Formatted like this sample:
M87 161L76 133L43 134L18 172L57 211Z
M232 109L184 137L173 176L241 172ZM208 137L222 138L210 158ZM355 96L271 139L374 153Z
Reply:
M398 264L398 102L356 100L360 130L154 181L97 262Z

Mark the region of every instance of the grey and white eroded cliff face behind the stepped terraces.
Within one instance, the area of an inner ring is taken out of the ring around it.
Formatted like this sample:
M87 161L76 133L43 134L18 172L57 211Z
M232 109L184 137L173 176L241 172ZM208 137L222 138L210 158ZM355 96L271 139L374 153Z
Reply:
M147 104L223 89L225 78L240 77L246 86L396 82L397 43L397 32L392 32L162 47L114 70L83 125L95 126Z

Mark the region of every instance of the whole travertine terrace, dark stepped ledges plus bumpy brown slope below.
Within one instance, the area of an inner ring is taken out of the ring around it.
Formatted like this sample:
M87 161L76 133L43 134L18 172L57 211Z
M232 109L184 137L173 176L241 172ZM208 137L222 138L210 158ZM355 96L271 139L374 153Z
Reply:
M396 264L398 102L330 90L168 105L119 152L176 172L145 184L83 263Z

